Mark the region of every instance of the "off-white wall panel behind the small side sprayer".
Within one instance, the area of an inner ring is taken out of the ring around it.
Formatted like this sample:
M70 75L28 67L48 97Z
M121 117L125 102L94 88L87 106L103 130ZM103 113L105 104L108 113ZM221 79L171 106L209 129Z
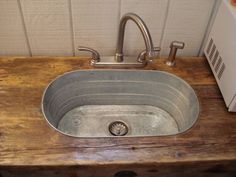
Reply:
M198 56L215 0L171 0L164 31L162 56L169 53L173 40L185 42L179 54Z

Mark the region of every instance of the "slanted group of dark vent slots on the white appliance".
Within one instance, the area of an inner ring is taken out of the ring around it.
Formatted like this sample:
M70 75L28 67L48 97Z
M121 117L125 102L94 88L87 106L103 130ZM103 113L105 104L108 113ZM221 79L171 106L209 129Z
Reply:
M208 43L206 55L208 55L209 63L212 66L215 76L220 80L224 74L226 66L222 60L222 57L220 56L219 51L217 50L213 39L210 39Z

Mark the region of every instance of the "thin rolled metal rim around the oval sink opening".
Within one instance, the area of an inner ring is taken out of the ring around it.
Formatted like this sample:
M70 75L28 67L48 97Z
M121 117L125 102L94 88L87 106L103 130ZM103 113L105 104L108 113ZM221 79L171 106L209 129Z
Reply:
M56 128L54 125L52 125L49 120L47 119L46 115L45 115L45 109L44 109L44 105L43 105L43 101L44 101L44 98L45 98L45 95L46 95L46 92L48 90L48 88L56 81L58 80L59 78L63 77L63 76L66 76L66 75L69 75L69 74L72 74L72 73L76 73L76 72L91 72L91 71L95 71L95 72L104 72L104 71L120 71L120 72L123 72L123 71L128 71L128 72L132 72L132 71L140 71L140 72L153 72L153 73L162 73L162 74L166 74L166 75L169 75L171 77L174 77L178 80L181 80L193 93L193 95L197 98L196 99L196 105L197 105L197 115L196 115L196 119L193 121L193 123L188 127L186 128L184 131L182 132L179 132L179 133L175 133L175 134L170 134L170 135L136 135L136 136L75 136L75 135L72 135L72 134L68 134L68 133L65 133L61 130L59 130L58 128ZM69 137L73 137L73 138L89 138L89 139L92 139L92 138L144 138L144 137L171 137L171 136L179 136L179 135L182 135L183 133L186 133L188 132L189 130L191 130L193 128L193 126L197 123L197 121L199 121L199 116L200 116L200 112L201 112L201 106L200 106L200 102L199 102L199 99L198 99L198 96L195 92L195 90L192 88L192 86L186 82L183 78L175 75L175 74L172 74L172 73L169 73L169 72L166 72L166 71L160 71L160 70L144 70L144 69L78 69L78 70L73 70L73 71L68 71L68 72L64 72L62 74L59 74L58 76L56 76L54 79L52 79L48 85L46 86L46 88L44 89L43 91L43 95L41 97L41 112L43 114L43 118L46 120L46 122L50 125L51 128L53 128L54 130L56 130L56 132L58 133L61 133L63 135L66 135L66 136L69 136Z

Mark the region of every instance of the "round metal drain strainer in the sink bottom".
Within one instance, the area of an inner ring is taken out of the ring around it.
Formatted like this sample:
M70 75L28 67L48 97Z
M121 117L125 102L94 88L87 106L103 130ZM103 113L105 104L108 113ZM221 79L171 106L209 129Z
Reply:
M125 136L128 130L128 126L121 121L115 121L109 125L109 131L114 136Z

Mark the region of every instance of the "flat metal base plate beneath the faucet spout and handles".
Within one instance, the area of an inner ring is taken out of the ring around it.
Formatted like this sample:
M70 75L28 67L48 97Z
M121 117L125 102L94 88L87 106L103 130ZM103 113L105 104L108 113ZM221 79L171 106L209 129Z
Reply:
M114 56L102 57L99 62L91 62L94 67L142 68L147 62L138 62L137 57L125 56L124 61L116 62Z

